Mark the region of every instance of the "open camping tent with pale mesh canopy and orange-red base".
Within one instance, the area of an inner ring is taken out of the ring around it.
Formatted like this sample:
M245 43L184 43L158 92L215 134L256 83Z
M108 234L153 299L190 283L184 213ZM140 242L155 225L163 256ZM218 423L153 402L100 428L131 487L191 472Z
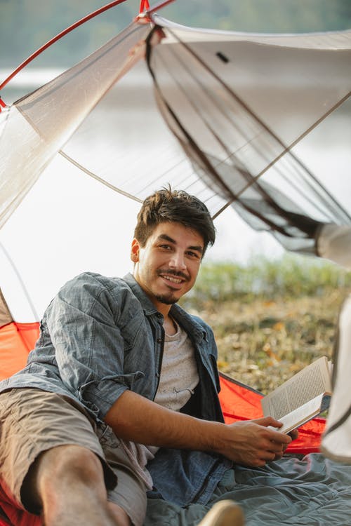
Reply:
M293 147L350 97L351 30L240 34L179 26L155 11L141 13L92 55L1 112L0 227L5 234L40 184L51 198L55 189L64 187L59 199L65 198L67 208L71 199L74 203L72 216L61 206L58 217L58 229L64 230L69 245L66 253L57 250L63 244L56 238L52 244L56 231L42 201L37 201L41 229L32 238L37 250L29 258L34 262L22 253L16 264L5 244L0 247L2 378L25 363L38 334L41 307L64 281L59 272L53 276L49 270L45 276L42 271L48 292L45 301L36 304L36 287L28 289L18 268L31 263L50 269L53 259L59 259L71 277L76 268L70 256L80 250L79 230L100 219L91 214L97 191L106 210L116 208L112 203L121 196L133 208L170 183L199 196L213 217L232 207L251 227L269 231L288 250L342 262L343 243L350 241L351 180L340 181L338 173L321 180ZM141 119L132 123L133 133L123 134L118 123L133 75L138 88L131 96ZM107 102L113 111L106 112ZM144 114L144 104L163 116L161 126L164 133L171 132L171 147L160 149L148 137L153 121L150 112ZM111 135L111 129L117 135ZM122 135L133 141L132 155L125 151ZM142 176L135 168L135 151L145 166ZM52 187L45 177L55 163L58 186ZM76 184L86 184L87 193ZM88 203L84 217L77 206L81 201L83 206ZM102 220L104 230L114 222L115 212ZM27 207L26 213L30 219L32 209ZM98 243L98 234L93 234ZM103 270L102 250L84 247L83 257L86 269L95 270L89 264L93 261ZM227 422L260 415L260 393L225 375L221 384ZM322 419L306 424L291 451L317 451L323 429Z

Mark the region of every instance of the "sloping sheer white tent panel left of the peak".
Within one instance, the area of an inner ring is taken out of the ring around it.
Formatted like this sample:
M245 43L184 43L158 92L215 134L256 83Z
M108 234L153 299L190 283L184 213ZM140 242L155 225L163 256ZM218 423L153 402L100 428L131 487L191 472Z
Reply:
M0 227L99 100L143 57L150 29L136 23L3 114Z

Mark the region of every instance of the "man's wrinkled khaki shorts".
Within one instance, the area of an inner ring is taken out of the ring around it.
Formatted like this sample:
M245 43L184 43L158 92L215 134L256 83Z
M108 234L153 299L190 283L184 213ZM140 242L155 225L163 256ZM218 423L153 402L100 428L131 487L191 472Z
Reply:
M22 498L23 480L41 452L72 444L98 455L107 499L121 506L133 525L143 525L145 484L109 426L96 426L83 407L56 393L26 388L0 394L0 478L18 506L39 513Z

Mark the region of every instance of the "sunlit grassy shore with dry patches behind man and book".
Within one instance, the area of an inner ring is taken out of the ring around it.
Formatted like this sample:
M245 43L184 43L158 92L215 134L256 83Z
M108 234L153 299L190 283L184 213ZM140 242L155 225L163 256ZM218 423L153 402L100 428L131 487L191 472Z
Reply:
M205 264L188 311L211 327L218 367L268 393L319 356L332 357L351 274L315 258L286 256L246 267Z

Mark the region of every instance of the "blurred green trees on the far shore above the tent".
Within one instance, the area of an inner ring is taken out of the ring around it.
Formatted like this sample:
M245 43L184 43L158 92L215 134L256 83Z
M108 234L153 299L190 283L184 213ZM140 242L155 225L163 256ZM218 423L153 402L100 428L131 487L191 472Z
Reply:
M28 55L107 0L0 0L0 67L15 67ZM150 1L156 5L157 0ZM35 60L37 67L68 67L126 27L139 0L102 13L65 36ZM160 11L183 25L247 32L313 32L349 29L350 0L176 0ZM74 61L74 62L73 62Z

